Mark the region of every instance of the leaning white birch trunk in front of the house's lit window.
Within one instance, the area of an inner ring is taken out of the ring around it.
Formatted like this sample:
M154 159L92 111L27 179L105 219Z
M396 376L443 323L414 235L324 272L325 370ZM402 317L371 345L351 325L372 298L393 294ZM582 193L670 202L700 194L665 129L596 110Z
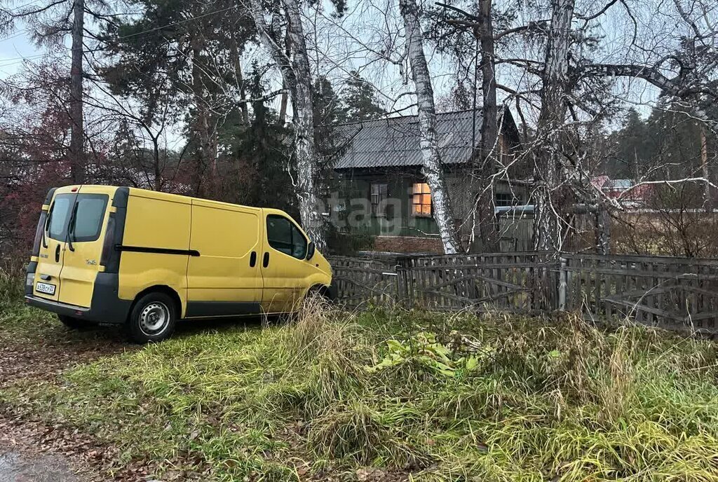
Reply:
M419 105L419 135L421 157L424 164L421 173L432 192L434 220L439 227L444 252L447 255L459 252L454 213L447 184L444 179L442 159L437 143L437 113L434 106L434 90L429 76L429 67L424 56L424 37L419 24L419 7L416 0L399 0L399 10L404 17L406 42L409 44L411 75L416 86L416 103Z

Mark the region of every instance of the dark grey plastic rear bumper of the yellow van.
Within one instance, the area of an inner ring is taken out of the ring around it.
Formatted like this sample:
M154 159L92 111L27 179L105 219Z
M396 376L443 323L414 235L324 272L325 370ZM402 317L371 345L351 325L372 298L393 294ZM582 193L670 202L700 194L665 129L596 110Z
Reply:
M25 295L25 303L58 315L118 325L127 321L132 301L118 298L117 287L116 273L98 273L90 308L47 300L32 294Z

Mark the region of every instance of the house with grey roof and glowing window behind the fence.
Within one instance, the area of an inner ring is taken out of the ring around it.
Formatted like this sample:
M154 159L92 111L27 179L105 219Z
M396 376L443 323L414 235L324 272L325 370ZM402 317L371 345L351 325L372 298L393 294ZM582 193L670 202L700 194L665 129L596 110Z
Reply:
M480 125L480 110L437 114L439 151L449 197L454 205L455 222L465 244L475 229L471 213L477 193L477 176L474 175L477 168L472 161L479 146ZM519 143L518 129L508 110L503 113L501 126L500 159L502 164L508 165ZM335 128L334 135L333 169L337 174L340 198L345 199L339 209L350 218L350 229L375 236L375 250L442 252L432 217L432 195L421 175L416 115L342 124ZM517 172L518 166L512 167L512 171ZM514 222L520 222L521 214L516 215L515 209L505 208L526 204L527 193L525 182L498 181L495 183L495 206L488 209L493 212L495 207L503 207L502 212L508 216L505 219L511 219L512 227L516 227ZM362 206L368 209L365 209L367 214L360 217L357 212ZM508 230L504 232L508 233ZM528 237L530 243L531 230L514 229L508 236L510 242L502 242L505 247L526 249L523 238ZM515 236L522 240L517 242ZM472 248L478 250L480 246Z

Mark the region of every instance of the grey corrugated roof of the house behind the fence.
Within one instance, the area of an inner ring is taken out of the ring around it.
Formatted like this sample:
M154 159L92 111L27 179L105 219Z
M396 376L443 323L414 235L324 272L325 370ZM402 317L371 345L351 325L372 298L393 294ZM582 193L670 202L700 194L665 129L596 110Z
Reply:
M473 123L476 144L479 141L481 113L463 110L437 114L439 151L444 164L462 164L472 153ZM416 115L342 124L335 128L342 146L334 169L369 167L421 166L419 120Z

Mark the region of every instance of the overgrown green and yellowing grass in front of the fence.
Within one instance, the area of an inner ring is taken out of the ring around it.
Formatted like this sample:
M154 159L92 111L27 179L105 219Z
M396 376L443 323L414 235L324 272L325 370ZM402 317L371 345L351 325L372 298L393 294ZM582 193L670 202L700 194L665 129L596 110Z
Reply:
M1 331L31 323L6 317ZM0 402L158 476L718 481L716 348L575 316L309 308L17 382Z

